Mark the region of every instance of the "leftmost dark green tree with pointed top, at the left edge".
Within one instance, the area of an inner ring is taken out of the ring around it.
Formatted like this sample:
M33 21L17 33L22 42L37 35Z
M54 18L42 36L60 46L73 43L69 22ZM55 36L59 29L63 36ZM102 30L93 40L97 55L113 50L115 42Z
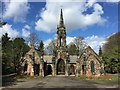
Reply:
M2 74L8 74L14 72L13 66L13 53L12 53L12 40L5 33L2 36Z

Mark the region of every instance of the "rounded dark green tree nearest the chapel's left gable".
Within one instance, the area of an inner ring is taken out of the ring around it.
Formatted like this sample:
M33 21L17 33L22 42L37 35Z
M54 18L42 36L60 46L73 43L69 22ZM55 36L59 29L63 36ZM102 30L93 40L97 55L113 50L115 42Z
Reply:
M25 43L23 38L15 38L13 40L13 63L15 72L18 74L20 71L20 58L23 57L28 50L29 46Z

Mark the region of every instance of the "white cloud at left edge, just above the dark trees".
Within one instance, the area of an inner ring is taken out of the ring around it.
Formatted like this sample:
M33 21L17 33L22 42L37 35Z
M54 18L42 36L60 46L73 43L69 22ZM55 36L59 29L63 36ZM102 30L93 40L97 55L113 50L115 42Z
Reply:
M8 36L11 38L15 38L20 35L20 33L12 28L12 25L6 24L2 28L0 28L0 37L2 37L3 34L8 33Z

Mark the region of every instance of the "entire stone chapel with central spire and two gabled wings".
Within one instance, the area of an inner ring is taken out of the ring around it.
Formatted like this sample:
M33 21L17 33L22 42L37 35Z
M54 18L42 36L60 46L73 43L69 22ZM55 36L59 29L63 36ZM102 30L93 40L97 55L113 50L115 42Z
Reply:
M104 70L102 58L88 46L80 55L69 55L66 47L66 28L61 9L60 22L57 26L57 53L55 55L39 55L34 46L25 54L21 73L34 76L46 75L101 75Z

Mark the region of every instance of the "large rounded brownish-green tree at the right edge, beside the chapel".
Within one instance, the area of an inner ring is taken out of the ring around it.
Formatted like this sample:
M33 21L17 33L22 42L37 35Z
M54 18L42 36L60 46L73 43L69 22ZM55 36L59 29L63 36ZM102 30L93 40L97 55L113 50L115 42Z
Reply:
M105 70L109 73L120 73L120 32L110 36L103 45Z

